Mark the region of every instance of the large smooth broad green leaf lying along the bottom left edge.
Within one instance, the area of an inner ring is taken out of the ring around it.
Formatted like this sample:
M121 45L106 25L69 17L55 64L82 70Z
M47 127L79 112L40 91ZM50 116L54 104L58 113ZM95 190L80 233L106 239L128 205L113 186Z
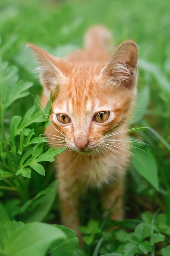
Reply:
M51 243L66 239L64 232L46 223L32 222L13 232L5 241L6 256L45 256Z

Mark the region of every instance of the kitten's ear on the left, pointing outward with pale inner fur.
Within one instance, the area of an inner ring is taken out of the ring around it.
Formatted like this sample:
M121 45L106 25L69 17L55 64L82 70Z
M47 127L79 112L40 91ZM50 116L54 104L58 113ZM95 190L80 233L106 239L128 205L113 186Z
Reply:
M44 86L45 93L50 92L50 90L55 90L57 84L62 83L62 81L66 79L64 74L56 67L61 61L60 58L54 57L30 43L27 43L27 46L32 50L38 61L40 82Z

